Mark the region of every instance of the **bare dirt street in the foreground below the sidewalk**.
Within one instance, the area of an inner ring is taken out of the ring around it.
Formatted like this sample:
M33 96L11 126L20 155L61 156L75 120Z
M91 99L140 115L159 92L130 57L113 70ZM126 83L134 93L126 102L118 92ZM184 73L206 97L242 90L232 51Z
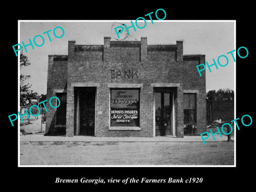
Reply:
M234 142L21 142L20 165L234 165Z

